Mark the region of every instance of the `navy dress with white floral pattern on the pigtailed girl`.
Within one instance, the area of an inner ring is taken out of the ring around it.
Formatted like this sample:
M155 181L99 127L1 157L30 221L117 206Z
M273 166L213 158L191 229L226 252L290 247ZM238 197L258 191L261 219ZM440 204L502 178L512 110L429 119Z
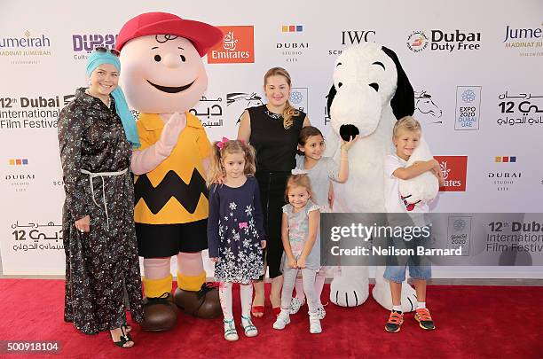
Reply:
M264 216L255 177L240 187L212 184L209 189L209 257L217 257L217 282L248 284L264 274L260 241Z

